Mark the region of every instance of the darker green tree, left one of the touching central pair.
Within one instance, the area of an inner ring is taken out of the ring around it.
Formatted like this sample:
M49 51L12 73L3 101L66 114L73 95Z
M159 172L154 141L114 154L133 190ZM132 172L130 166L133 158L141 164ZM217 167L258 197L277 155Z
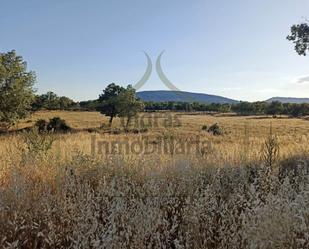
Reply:
M109 125L112 125L114 117L120 112L119 95L124 92L125 88L116 85L115 83L109 84L104 90L103 94L99 96L99 104L97 111L110 117Z

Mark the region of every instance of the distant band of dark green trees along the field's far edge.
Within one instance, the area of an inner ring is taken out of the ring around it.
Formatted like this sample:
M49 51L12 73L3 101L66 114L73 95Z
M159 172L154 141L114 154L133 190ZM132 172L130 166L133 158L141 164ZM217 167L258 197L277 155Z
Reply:
M101 101L88 100L74 102L65 96L58 96L53 92L37 95L32 103L32 111L38 110L80 110L97 111ZM144 102L145 111L187 111L187 112L234 112L239 115L288 115L301 117L309 115L309 103L293 104L274 102L239 102L237 104L203 104L187 102Z

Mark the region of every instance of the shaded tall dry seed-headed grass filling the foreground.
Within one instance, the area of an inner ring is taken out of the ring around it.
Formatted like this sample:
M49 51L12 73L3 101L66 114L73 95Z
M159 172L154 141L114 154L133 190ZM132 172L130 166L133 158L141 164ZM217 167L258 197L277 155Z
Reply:
M290 181L276 170L266 178L263 165L177 161L147 173L147 161L112 166L117 163L78 154L65 168L50 163L7 171L0 247L309 248L304 171Z

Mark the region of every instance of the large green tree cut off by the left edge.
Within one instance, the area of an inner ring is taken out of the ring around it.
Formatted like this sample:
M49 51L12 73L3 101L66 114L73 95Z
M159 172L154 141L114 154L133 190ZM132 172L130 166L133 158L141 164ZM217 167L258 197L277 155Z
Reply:
M6 128L31 111L35 73L14 50L0 53L0 122Z

